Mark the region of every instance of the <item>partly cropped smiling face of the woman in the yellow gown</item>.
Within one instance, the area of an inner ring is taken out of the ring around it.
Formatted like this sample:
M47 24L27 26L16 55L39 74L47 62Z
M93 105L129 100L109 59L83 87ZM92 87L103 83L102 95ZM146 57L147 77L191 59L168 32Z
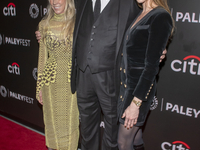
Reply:
M65 11L66 0L49 0L52 9L56 14L62 14Z

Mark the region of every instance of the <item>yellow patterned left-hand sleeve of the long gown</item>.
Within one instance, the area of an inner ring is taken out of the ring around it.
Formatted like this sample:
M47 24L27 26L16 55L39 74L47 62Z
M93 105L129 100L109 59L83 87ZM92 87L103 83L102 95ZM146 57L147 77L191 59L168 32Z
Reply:
M39 92L43 86L42 75L47 61L47 49L43 41L43 26L42 21L39 23L39 31L41 34L41 40L39 43L39 56L38 56L38 74L37 74L37 86L36 86L36 99L39 100Z

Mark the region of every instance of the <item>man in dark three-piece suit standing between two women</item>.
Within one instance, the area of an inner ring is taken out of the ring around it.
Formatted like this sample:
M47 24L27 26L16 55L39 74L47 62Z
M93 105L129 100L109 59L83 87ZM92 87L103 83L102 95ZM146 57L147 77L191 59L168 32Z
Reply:
M120 49L124 32L139 8L134 0L78 0L72 53L72 93L77 91L81 118L81 150L117 150L117 96ZM102 8L102 6L104 8Z

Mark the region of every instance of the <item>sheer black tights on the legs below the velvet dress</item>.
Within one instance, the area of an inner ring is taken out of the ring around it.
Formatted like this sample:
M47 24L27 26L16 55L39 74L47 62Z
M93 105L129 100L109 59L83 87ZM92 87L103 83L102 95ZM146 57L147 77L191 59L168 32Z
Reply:
M120 124L118 132L118 147L119 150L134 150L134 145L142 145L142 129L133 126L130 129Z

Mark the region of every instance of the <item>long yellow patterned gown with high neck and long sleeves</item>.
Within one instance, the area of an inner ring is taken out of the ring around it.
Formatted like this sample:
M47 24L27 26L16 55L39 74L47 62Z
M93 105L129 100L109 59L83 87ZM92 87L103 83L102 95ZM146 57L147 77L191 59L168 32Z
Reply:
M63 18L63 14L54 14L42 35L44 40L40 40L36 98L39 99L41 90L47 147L77 150L79 113L76 94L71 94L70 89L72 35L64 40ZM41 21L41 34L43 27Z

